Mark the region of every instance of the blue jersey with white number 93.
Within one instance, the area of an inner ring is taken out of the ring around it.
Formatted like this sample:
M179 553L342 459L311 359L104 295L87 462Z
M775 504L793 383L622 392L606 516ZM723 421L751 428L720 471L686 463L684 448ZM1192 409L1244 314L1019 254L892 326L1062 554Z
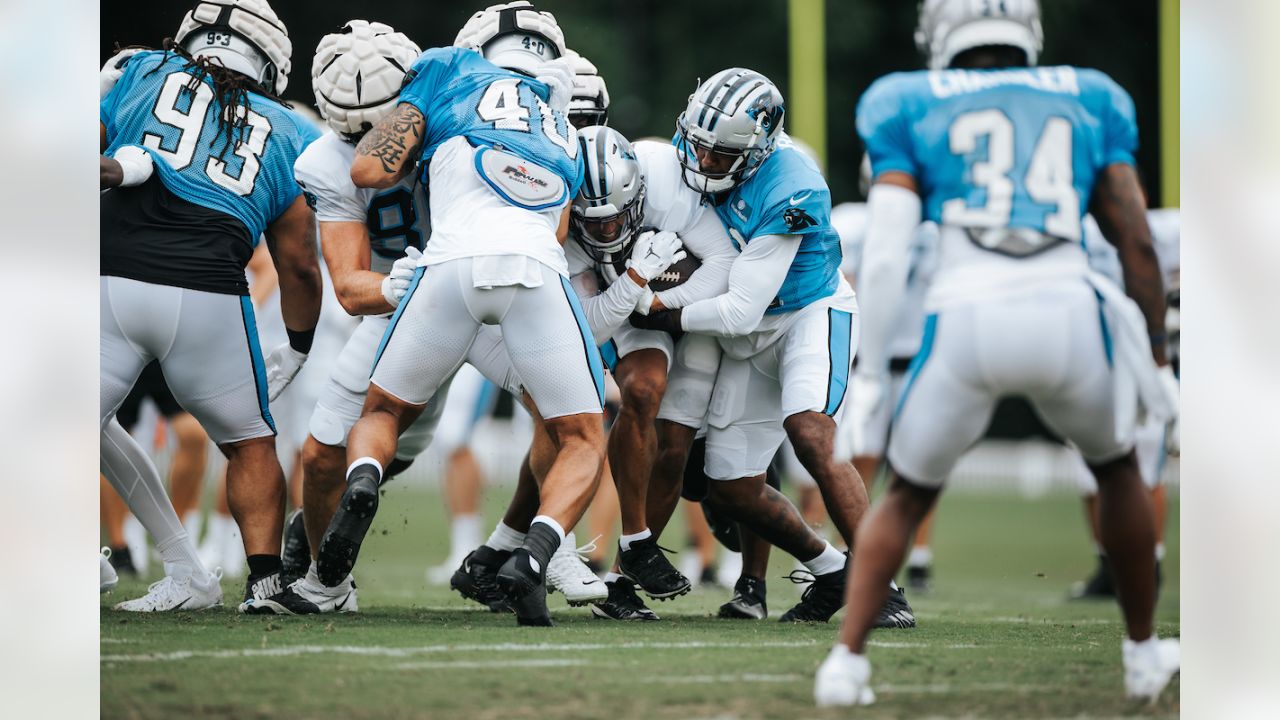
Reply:
M230 138L212 82L195 82L188 60L138 53L102 99L106 154L123 145L151 151L155 172L178 197L242 222L252 238L298 197L293 161L319 131L288 108L248 94L244 123Z

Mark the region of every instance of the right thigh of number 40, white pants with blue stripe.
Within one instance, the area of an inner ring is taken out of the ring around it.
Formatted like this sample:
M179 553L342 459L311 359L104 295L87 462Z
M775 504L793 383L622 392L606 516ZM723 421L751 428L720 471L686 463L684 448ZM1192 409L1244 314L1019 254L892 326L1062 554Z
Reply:
M520 287L502 319L516 372L544 419L600 413L604 364L568 281L543 268L539 287Z

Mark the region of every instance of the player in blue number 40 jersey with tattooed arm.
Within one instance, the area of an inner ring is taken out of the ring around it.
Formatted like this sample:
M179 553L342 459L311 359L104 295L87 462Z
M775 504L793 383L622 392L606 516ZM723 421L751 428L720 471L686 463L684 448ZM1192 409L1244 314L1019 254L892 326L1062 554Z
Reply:
M512 27L518 32L494 35ZM513 601L545 606L547 564L586 510L604 456L604 368L557 238L582 177L564 118L572 73L557 63L564 40L554 17L526 1L476 13L458 44L468 38L483 55L458 46L424 53L399 105L356 146L357 187L390 187L421 163L433 233L375 357L347 441L347 491L319 559L355 561L399 429L463 361L480 328L499 325L554 461L539 515L497 582ZM549 624L545 612L517 618Z

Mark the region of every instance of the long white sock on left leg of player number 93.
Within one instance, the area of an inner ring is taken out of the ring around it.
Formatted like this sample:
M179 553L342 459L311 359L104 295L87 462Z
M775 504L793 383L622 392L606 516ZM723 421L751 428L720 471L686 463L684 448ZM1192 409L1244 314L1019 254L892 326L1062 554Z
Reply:
M133 516L142 523L156 547L165 557L165 570L170 562L189 562L192 570L204 574L205 566L196 555L196 544L178 520L169 502L160 473L146 451L114 418L100 438L100 465L108 482L124 498Z

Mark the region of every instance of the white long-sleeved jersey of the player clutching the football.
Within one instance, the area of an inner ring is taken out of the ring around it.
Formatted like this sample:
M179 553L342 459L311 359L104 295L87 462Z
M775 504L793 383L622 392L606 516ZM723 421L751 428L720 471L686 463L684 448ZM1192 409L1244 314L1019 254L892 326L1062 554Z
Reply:
M658 299L676 309L723 293L737 256L723 223L714 213L704 211L699 193L681 179L680 159L671 143L643 140L631 147L645 181L641 225L678 234L685 250L701 261L686 282L657 293ZM564 255L591 332L596 342L607 342L631 314L641 290L630 281L617 282L618 274L608 263L598 266L573 240L564 242Z

